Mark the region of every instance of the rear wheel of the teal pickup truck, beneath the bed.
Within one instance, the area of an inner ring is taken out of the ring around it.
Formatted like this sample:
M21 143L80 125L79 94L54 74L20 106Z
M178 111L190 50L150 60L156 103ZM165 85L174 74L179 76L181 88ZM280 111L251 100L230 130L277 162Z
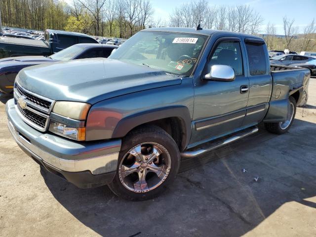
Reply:
M296 114L296 100L292 96L290 96L289 102L289 109L285 121L265 123L265 127L269 132L283 134L287 132L287 130L291 127Z

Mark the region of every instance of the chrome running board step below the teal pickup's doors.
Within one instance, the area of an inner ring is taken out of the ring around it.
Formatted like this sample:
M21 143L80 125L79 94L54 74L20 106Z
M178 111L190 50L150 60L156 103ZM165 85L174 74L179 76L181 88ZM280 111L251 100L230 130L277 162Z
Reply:
M184 151L181 153L181 157L183 158L193 158L193 157L197 157L199 155L202 155L206 152L210 152L210 151L213 151L217 148L220 148L220 147L223 147L231 142L235 142L241 138L244 138L246 136L249 136L251 134L254 134L258 131L258 127L257 126L253 126L253 127L249 127L249 128L246 128L244 130L241 130L240 132L238 133L235 133L235 135L232 135L231 137L228 137L226 139L220 139L219 138L219 141L214 141L211 143L211 145L207 148L200 148L200 149L197 149L197 150L194 150L194 151Z

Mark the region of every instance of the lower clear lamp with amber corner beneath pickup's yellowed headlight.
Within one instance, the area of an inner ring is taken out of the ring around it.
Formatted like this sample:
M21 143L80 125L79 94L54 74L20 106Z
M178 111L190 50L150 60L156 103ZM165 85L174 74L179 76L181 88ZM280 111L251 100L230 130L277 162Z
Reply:
M77 141L85 140L85 127L71 127L61 122L51 120L49 131Z

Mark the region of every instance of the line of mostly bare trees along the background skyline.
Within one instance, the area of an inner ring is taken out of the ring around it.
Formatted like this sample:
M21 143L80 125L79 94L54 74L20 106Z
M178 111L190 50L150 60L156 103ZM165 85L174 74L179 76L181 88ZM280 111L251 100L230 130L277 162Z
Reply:
M150 27L196 27L259 34L269 49L316 51L316 22L298 33L295 21L283 18L283 39L276 27L263 27L263 17L249 5L210 5L207 0L184 3L173 9L169 19L154 19L150 0L0 0L2 24L10 27L81 32L93 36L129 38ZM264 28L264 29L263 29Z

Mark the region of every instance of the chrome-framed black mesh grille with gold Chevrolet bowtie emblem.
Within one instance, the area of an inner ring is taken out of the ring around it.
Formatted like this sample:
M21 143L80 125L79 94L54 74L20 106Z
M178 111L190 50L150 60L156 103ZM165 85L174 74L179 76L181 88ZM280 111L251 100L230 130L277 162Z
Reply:
M37 95L18 83L14 85L14 99L16 110L26 123L40 131L47 130L53 100Z

